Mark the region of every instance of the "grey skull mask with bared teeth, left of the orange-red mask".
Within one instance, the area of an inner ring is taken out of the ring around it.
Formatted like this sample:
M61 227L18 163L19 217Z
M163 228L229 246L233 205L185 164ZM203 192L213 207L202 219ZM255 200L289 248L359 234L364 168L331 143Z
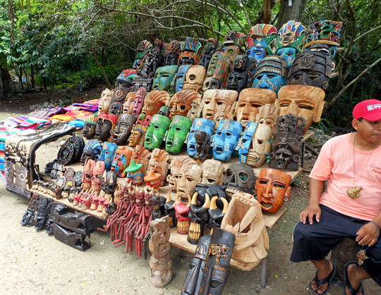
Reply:
M246 164L234 163L229 165L224 176L226 193L245 192L252 194L255 186L253 168Z

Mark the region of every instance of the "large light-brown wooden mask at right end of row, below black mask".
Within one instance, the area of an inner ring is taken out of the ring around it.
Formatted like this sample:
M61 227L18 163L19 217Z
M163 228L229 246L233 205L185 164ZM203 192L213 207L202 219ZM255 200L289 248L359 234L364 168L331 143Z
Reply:
M306 119L306 133L313 122L319 122L324 107L323 89L308 85L287 85L279 89L277 106L279 115L289 113Z

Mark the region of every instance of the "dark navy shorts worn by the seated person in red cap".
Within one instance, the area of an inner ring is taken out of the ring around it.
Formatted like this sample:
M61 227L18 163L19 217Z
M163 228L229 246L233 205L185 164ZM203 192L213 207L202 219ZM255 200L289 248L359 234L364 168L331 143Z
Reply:
M338 213L327 206L320 205L322 214L320 222L315 216L313 225L306 222L304 225L298 221L294 227L294 247L292 249L292 262L320 261L345 238L356 239L356 232L369 221L353 218ZM361 249L361 246L359 249ZM364 246L366 249L368 246ZM381 238L376 244L366 250L366 259L363 268L370 277L381 286Z

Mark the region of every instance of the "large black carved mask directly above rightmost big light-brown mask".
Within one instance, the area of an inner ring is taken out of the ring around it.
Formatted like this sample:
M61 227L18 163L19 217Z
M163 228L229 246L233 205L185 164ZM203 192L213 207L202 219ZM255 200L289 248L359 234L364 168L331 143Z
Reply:
M296 56L290 69L289 85L309 85L321 89L328 88L332 75L330 56L320 51L311 51Z

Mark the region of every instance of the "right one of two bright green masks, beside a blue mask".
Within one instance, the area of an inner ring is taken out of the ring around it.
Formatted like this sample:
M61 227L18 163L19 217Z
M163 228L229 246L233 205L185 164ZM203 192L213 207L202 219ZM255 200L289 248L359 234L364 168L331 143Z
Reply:
M180 153L186 140L189 130L191 130L192 120L183 115L175 115L169 126L165 150L169 153Z

